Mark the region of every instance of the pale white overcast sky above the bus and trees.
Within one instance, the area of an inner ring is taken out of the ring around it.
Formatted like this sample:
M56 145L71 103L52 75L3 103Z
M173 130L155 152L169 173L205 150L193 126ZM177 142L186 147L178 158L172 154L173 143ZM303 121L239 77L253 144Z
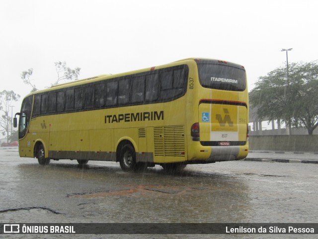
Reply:
M289 62L318 60L317 10L317 0L0 0L0 91L23 98L29 68L49 86L56 61L87 78L188 57L245 66L251 90L286 64L282 48Z

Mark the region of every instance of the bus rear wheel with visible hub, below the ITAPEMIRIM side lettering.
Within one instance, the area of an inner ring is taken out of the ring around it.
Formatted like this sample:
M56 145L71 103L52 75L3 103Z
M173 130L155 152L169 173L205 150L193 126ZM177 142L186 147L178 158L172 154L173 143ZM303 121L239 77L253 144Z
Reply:
M119 164L123 171L130 172L137 169L136 152L134 147L127 143L119 152Z

